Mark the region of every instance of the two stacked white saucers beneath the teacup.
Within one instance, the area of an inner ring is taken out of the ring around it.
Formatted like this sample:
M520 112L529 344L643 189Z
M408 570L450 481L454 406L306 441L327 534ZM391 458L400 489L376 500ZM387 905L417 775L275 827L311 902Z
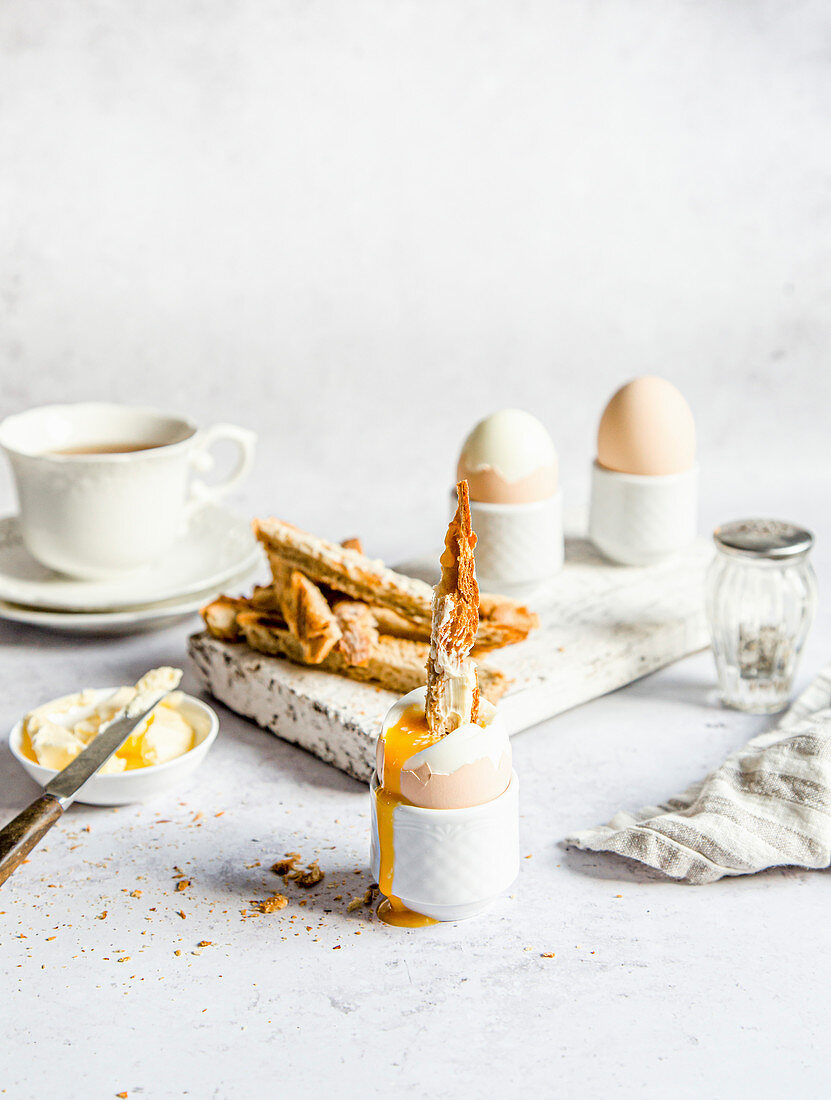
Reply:
M261 563L250 525L205 505L153 565L117 580L85 581L35 561L18 517L7 516L0 519L0 618L79 634L132 634L192 615Z

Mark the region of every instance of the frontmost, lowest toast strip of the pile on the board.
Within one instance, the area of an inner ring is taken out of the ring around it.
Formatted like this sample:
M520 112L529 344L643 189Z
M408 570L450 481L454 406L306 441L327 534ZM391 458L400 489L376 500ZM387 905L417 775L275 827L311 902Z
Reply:
M306 664L299 642L278 615L241 612L238 622L252 649L261 653L286 657L296 664ZM365 664L348 664L343 654L336 648L315 668L406 694L424 684L427 654L428 647L420 641L380 637L372 647ZM479 666L479 682L482 694L492 703L507 691L511 683L504 672L485 666Z

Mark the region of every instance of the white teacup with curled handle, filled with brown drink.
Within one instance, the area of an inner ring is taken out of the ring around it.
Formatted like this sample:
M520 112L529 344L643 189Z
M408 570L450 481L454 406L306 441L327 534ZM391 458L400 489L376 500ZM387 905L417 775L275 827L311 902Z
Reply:
M209 449L220 440L237 446L237 463L208 486L192 474L210 469ZM248 476L255 441L233 425L197 428L156 409L103 403L46 405L0 424L26 549L87 580L157 560L197 508Z

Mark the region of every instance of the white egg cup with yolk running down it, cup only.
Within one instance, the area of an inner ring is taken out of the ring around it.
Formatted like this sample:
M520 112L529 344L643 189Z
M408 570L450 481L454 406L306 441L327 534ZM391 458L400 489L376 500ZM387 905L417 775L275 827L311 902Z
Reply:
M375 791L370 780L370 867L381 875ZM504 893L520 871L520 781L492 802L466 810L425 810L407 803L393 815L392 889L407 909L434 921L475 916Z

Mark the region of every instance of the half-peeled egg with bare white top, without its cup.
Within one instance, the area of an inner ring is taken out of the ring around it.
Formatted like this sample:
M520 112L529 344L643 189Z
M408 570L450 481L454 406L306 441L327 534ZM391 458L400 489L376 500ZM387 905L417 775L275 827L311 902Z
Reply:
M457 481L471 501L529 504L557 492L557 452L544 426L523 409L502 409L473 428L459 455Z

